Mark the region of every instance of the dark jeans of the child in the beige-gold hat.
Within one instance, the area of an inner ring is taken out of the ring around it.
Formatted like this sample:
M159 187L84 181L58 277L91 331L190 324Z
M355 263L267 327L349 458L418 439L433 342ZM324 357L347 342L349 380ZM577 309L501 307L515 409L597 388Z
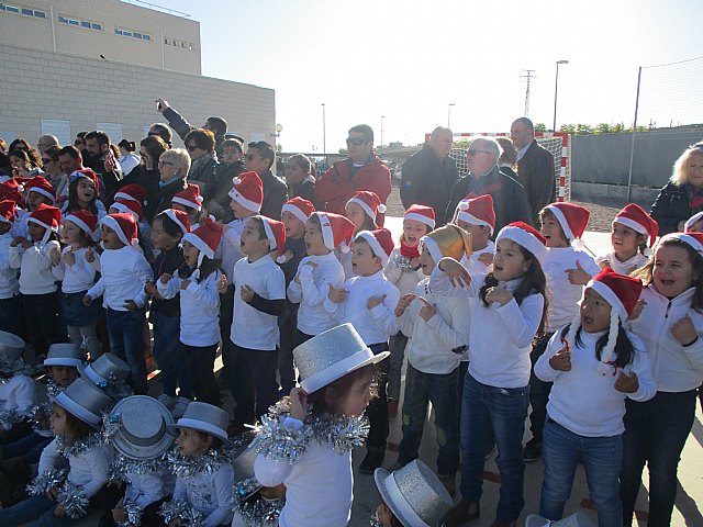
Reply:
M392 357L392 356L391 356ZM457 419L457 377L450 373L423 373L408 363L405 399L403 400L403 439L398 447L398 462L402 466L417 459L422 430L432 402L437 429L437 473L454 475L459 464L459 429Z

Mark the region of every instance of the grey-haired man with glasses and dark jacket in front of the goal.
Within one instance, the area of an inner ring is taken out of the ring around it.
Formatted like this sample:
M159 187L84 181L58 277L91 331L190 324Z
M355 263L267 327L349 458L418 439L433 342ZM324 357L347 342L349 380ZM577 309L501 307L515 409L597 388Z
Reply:
M469 173L460 178L451 189L445 222L451 221L454 211L465 197L490 194L495 210L494 236L512 222L531 223L532 210L525 189L517 180L498 168L501 146L493 137L477 137L466 150Z

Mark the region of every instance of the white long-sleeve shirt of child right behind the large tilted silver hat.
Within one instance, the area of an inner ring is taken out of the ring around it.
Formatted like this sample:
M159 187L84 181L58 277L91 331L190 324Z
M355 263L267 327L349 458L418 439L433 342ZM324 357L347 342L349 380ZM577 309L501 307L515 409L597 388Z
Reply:
M337 324L352 323L367 346L388 343L400 330L395 318L400 292L382 270L370 277L350 278L344 282L343 288L347 290L344 302L335 304L328 298L324 301L325 310L335 317ZM367 309L370 298L383 294L386 300L382 303L372 310Z

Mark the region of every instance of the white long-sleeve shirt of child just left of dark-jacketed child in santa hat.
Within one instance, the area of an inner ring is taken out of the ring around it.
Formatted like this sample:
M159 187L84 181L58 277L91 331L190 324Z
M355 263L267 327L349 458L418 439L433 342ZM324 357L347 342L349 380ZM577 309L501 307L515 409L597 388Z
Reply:
M100 273L102 277L98 283L88 290L93 301L104 294L104 307L127 311L124 306L127 300L134 300L137 306L144 307L144 285L154 279L154 273L141 250L132 246L105 250L100 258Z

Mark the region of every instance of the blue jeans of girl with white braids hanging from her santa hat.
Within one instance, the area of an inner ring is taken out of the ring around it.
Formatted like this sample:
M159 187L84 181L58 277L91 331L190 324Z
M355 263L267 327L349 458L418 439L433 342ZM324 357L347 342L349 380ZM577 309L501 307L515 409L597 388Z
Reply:
M623 462L623 436L579 436L549 417L543 430L545 474L539 515L551 520L561 519L563 504L571 495L580 455L591 500L598 512L598 525L621 527L623 506L620 501L620 471Z

